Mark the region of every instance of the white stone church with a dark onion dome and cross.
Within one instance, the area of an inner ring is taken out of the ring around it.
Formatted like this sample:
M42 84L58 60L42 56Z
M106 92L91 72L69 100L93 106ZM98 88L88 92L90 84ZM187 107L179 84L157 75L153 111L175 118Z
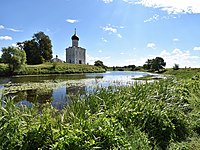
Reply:
M72 46L66 48L66 62L71 64L85 64L86 63L86 49L79 47L79 37L74 35L71 37Z

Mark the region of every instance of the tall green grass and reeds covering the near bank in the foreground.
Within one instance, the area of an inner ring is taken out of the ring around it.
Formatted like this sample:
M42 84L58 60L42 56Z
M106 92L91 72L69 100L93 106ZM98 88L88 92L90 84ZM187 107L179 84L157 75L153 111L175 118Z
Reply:
M0 149L200 149L200 77L99 88L65 109L0 106Z

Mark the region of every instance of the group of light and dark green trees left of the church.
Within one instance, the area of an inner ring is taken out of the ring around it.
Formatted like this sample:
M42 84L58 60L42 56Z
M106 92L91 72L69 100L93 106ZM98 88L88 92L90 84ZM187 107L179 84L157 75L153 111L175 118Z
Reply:
M44 32L38 32L31 40L18 42L16 47L3 47L0 62L8 63L10 72L14 72L25 63L42 64L52 58L52 44L49 36Z

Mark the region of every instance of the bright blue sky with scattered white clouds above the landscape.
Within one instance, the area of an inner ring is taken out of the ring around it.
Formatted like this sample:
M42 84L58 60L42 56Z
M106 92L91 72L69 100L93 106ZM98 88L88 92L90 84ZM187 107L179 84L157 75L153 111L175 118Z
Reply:
M200 68L200 0L1 0L0 49L44 32L65 60L74 29L86 62ZM0 52L0 55L2 53Z

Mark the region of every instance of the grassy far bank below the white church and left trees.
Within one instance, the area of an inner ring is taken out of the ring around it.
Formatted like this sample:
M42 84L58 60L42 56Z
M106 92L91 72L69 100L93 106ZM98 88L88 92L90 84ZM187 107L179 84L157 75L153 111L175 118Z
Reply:
M21 69L16 70L13 75L95 73L104 71L103 68L92 65L45 63L40 65L25 65ZM6 76L9 74L8 65L0 64L0 76Z

